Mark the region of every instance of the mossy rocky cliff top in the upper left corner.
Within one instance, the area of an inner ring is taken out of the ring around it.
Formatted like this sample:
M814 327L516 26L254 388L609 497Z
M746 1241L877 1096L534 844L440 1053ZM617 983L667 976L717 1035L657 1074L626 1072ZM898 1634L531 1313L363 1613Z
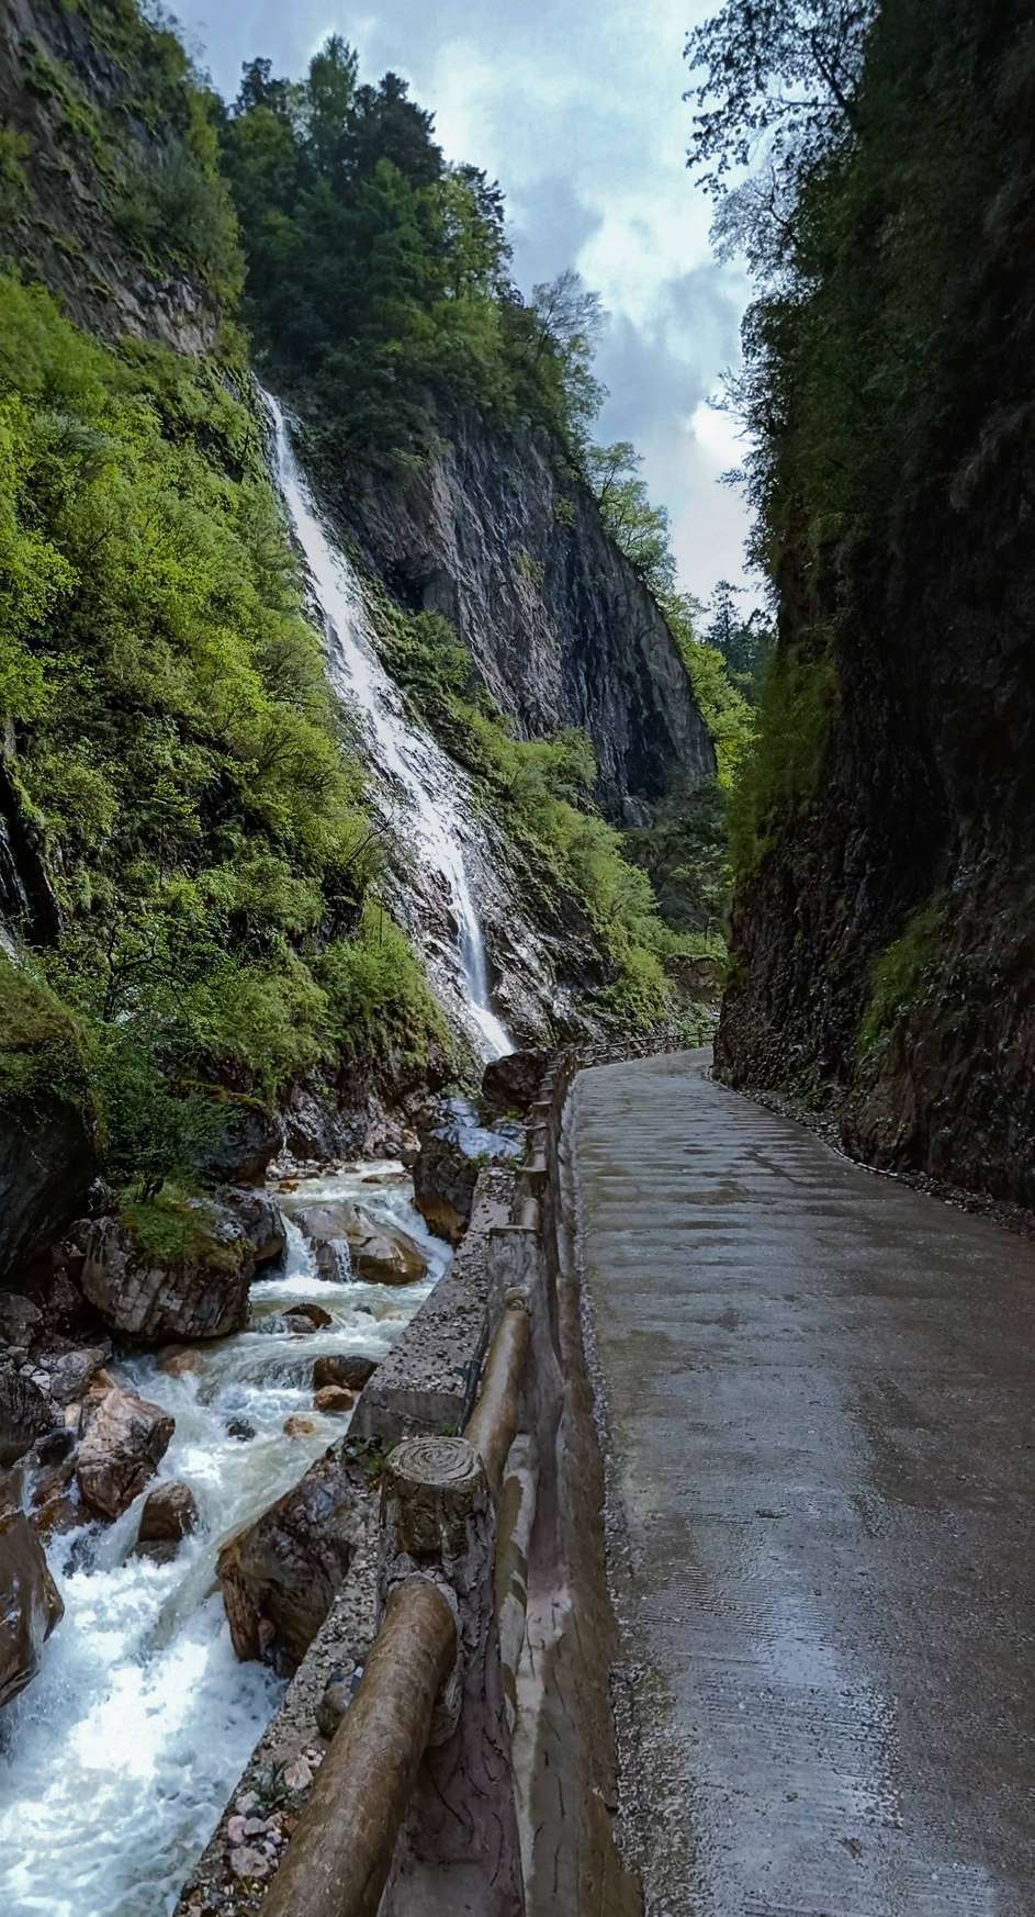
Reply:
M104 339L209 353L243 266L215 130L134 0L6 0L0 257Z

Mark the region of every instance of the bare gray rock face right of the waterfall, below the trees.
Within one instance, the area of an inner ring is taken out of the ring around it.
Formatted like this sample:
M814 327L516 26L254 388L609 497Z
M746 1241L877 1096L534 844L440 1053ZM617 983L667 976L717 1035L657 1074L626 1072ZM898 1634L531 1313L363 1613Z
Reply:
M611 819L646 820L678 786L711 778L675 640L548 433L462 414L443 435L412 473L349 473L337 502L387 587L452 619L521 730L588 734Z

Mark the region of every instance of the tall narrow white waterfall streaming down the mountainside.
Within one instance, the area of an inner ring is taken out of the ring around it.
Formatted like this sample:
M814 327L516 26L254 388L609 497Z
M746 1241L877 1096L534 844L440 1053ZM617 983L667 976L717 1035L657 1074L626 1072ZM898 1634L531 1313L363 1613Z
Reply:
M272 393L263 397L274 424L278 485L324 615L332 684L349 711L358 709L374 765L391 782L399 824L422 863L439 872L448 888L460 932L452 958L460 968L464 997L485 1056L502 1058L514 1051L514 1041L489 997L485 939L464 865L456 771L435 740L406 717L399 688L370 640L356 575L328 537L295 458L284 408Z

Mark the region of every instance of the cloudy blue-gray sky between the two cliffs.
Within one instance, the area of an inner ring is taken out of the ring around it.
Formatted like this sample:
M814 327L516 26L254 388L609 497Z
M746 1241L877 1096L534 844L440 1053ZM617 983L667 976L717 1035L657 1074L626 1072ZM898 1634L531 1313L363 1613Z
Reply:
M709 399L736 362L748 288L709 251L709 205L684 165L686 29L717 0L178 0L192 50L224 94L243 59L297 75L328 33L364 79L393 67L435 111L450 159L496 174L527 291L575 265L610 312L600 437L632 439L673 520L682 585L742 577L744 508L719 485L738 462Z

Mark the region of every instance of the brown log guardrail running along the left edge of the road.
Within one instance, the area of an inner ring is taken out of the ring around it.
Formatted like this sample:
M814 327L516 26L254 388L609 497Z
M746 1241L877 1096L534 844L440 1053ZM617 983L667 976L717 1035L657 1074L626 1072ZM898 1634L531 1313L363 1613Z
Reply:
M514 1537L496 1553L496 1501L535 1411L529 1353L533 1374L556 1371L542 1242L558 1229L552 1141L575 1072L592 1062L558 1054L531 1108L510 1223L491 1233L496 1328L464 1434L406 1438L387 1457L378 1637L263 1917L523 1917L510 1767L523 1583Z

